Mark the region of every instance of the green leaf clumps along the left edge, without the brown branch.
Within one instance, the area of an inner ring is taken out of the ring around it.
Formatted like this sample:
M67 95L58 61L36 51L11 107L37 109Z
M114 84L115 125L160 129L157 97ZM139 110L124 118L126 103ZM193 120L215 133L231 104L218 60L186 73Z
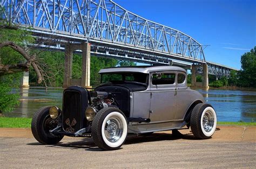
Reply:
M0 15L1 17L1 15ZM0 25L6 25L15 27L11 25L8 21L0 18ZM22 29L0 29L0 43L11 41L19 46L25 46L28 43L33 42L33 38L30 33ZM4 47L0 49L0 62L4 65L17 64L24 62L25 59L16 52L15 50ZM18 104L19 94L12 93L12 89L15 90L16 87L20 85L20 79L22 77L22 72L14 73L11 75L4 75L0 77L0 111L3 113L10 112L16 104Z

